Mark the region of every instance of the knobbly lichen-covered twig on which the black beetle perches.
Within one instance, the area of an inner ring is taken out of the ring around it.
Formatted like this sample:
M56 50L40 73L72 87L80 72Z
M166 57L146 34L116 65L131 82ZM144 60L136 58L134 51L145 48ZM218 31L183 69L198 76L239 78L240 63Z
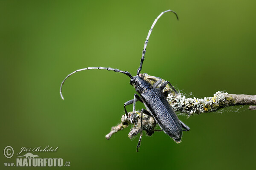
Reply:
M150 82L152 85L157 82L158 78L143 74L143 77L146 81ZM163 80L162 82L164 82ZM212 111L217 111L221 108L227 106L235 105L251 105L250 110L256 110L256 95L245 95L245 94L228 94L224 92L216 92L212 97L204 97L204 99L199 98L189 98L182 94L175 94L172 91L172 88L169 85L166 85L163 93L166 96L166 99L172 106L175 112L185 113L188 116L193 114L208 113ZM121 123L115 127L111 128L111 132L106 135L106 139L110 139L113 133L123 130L128 127L129 124L133 124L128 137L132 139L138 133L140 133L140 111L136 113L129 112L128 118L123 115ZM131 121L132 120L132 121ZM154 128L156 127L156 122L153 117L143 114L143 130L146 135L151 136L154 133Z

